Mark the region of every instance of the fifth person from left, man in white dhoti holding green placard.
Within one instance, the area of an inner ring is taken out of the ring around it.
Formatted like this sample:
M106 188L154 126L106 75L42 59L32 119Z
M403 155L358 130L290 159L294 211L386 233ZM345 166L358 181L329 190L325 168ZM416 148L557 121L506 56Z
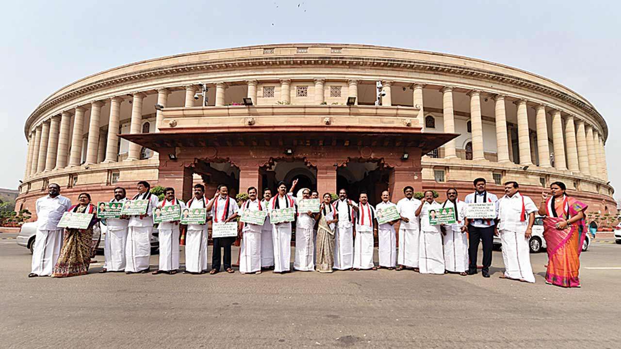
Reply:
M153 223L158 223L160 241L160 263L153 275L176 274L179 269L179 222L181 210L185 207L183 201L175 197L175 189L164 189L164 201L156 208L161 209L161 218L153 218Z

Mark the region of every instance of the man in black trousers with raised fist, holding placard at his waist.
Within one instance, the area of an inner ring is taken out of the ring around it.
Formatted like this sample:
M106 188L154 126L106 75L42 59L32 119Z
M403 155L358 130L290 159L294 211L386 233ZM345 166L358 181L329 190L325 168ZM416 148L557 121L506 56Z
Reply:
M229 196L229 188L225 184L220 184L215 196L206 207L214 217L212 224L212 237L214 238L214 251L211 256L211 271L215 274L220 271L220 248L224 248L224 270L227 273L235 273L231 268L231 245L237 237L237 212L239 206L235 199Z

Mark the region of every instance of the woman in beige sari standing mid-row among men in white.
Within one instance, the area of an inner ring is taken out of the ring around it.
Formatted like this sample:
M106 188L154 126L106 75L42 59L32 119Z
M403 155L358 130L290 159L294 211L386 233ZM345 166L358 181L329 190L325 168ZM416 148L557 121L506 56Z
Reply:
M332 273L334 265L334 227L338 218L334 214L332 195L325 193L321 203L319 225L317 226L317 271L319 273Z

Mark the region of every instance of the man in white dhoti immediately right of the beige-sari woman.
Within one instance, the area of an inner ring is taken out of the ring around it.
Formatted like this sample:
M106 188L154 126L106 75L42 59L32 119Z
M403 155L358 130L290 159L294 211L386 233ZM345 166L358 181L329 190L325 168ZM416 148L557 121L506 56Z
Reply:
M337 212L337 229L334 236L334 266L336 270L353 268L353 223L358 212L358 204L347 198L347 190L338 191L338 200L334 203Z

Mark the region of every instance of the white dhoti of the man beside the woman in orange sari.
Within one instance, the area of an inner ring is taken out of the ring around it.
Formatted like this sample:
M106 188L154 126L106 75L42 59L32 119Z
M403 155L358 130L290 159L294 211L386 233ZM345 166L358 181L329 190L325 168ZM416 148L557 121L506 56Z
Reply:
M530 248L524 233L501 230L502 259L504 260L504 276L510 279L535 282L533 268L530 266Z

